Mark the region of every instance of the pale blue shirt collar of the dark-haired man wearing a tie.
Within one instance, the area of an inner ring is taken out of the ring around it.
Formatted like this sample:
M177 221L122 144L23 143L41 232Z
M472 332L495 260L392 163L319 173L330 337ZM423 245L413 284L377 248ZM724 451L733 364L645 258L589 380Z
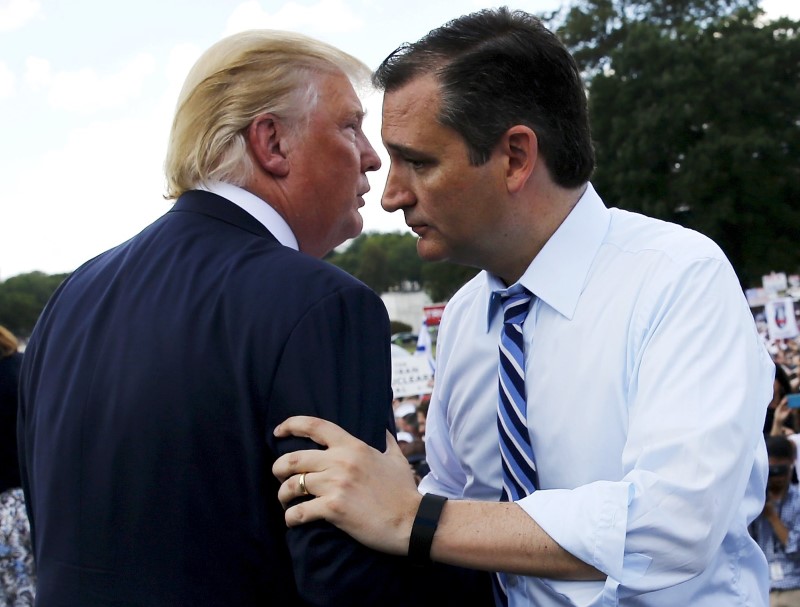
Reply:
M571 319L610 222L610 211L592 184L587 184L583 196L517 282ZM493 274L487 273L486 277L488 329L500 305L496 291L506 286Z

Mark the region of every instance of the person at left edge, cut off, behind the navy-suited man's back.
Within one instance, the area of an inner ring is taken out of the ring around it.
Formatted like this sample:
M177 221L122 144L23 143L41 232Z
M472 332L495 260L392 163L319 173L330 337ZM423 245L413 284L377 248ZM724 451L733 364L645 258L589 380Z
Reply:
M17 398L23 354L0 325L0 605L28 607L36 596L30 524L19 477Z

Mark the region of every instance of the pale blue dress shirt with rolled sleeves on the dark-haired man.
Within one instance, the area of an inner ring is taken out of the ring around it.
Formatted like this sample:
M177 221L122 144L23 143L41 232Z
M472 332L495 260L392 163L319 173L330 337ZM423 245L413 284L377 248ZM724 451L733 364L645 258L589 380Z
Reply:
M519 282L537 296L524 339L541 489L518 503L608 577L511 576L510 604L767 605L747 525L764 501L774 364L719 247L607 209L589 185ZM445 308L422 493L500 497L503 287L481 272Z

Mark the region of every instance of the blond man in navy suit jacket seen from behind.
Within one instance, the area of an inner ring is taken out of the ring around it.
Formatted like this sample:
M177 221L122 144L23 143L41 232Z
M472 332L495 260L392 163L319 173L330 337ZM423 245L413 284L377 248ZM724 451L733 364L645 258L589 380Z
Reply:
M72 273L27 346L38 606L417 604L403 559L328 523L287 532L270 474L311 444L273 436L292 413L376 449L395 430L386 309L321 259L361 231L380 166L354 88L368 77L273 30L225 38L189 72L173 206Z

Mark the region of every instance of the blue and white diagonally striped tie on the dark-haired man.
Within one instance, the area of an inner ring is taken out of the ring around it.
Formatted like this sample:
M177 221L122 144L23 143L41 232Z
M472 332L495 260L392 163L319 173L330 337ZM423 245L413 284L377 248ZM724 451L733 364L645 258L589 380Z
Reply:
M503 304L503 328L500 332L497 430L503 464L501 501L516 501L533 493L539 486L536 463L528 434L528 406L525 400L525 345L522 323L528 315L531 293L522 285L499 292ZM506 578L498 573L495 600L507 605Z

